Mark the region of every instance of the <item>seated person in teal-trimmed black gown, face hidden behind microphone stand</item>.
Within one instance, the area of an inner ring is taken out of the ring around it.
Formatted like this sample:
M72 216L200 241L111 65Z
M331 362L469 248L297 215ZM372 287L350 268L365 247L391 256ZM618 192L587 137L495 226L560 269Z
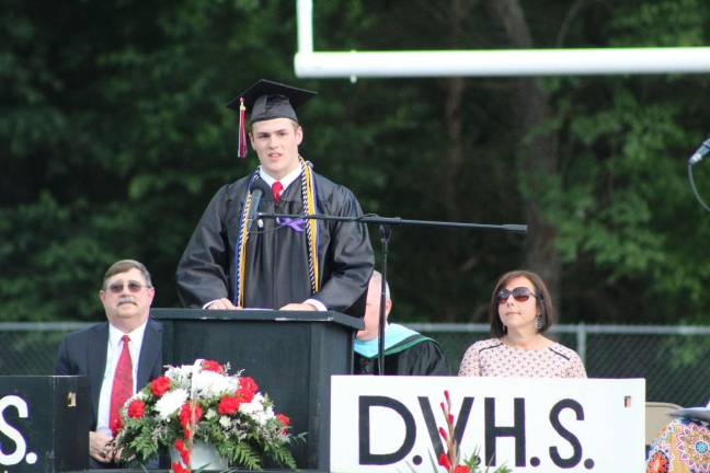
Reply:
M355 341L355 374L376 374L379 330L379 307L382 275L373 273L365 305L365 330ZM389 285L385 290L385 315L392 309ZM446 357L432 338L388 323L385 327L385 374L449 376Z

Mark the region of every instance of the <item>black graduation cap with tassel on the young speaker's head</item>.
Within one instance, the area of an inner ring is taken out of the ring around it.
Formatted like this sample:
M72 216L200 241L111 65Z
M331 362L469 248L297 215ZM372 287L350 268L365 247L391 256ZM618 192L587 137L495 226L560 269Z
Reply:
M239 111L239 157L247 155L247 129L244 125L247 111L249 111L249 120L252 124L273 118L290 118L298 123L296 108L317 93L261 79L239 96L229 101L227 106Z

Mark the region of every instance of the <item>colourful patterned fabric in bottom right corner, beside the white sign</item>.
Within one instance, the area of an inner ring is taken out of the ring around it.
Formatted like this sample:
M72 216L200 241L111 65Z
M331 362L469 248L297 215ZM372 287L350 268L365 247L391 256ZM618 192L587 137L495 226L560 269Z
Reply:
M710 473L710 424L678 418L651 443L648 473Z

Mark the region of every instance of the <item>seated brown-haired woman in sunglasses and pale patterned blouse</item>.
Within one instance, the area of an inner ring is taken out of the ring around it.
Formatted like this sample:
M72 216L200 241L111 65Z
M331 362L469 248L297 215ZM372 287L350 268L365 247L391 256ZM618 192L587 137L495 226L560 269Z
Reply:
M514 270L501 276L489 312L493 338L466 350L459 376L586 378L580 356L543 335L556 312L538 275Z

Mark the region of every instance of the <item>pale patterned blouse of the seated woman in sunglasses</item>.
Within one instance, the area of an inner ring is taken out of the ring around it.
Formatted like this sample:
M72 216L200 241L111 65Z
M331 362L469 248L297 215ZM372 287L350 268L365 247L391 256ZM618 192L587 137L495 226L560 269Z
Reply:
M519 349L499 338L477 342L466 350L459 376L503 378L586 378L582 359L553 343L543 349Z

